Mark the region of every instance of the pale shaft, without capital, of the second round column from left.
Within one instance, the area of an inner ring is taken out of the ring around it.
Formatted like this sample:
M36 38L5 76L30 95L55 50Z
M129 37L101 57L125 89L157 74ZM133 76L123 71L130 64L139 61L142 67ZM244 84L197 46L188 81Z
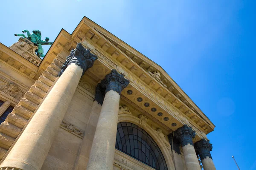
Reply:
M112 170L120 95L113 90L105 94L99 121L90 150L87 170Z

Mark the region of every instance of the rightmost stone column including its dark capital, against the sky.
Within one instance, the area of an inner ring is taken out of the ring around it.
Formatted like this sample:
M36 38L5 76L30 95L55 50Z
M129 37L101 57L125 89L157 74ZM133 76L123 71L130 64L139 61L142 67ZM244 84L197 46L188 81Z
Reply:
M212 144L209 140L201 139L195 143L195 151L199 154L204 170L216 170L210 151L212 151Z

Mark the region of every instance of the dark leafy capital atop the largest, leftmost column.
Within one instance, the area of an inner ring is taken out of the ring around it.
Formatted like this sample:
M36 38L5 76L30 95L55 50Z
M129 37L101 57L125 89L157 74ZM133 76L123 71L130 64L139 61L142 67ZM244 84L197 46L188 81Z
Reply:
M98 59L98 57L94 54L90 53L90 49L84 48L81 43L77 43L76 48L70 51L70 55L67 57L66 62L64 62L61 67L61 71L58 76L61 76L63 72L66 70L67 66L75 63L83 69L83 74L87 71L88 68L93 66L93 62Z

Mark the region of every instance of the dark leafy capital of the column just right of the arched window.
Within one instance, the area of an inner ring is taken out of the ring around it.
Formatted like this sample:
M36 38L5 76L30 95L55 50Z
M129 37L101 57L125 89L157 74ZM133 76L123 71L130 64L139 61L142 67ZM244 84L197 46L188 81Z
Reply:
M184 125L174 132L174 136L179 140L182 147L186 146L187 144L193 145L192 139L195 138L195 131L192 130L192 127Z

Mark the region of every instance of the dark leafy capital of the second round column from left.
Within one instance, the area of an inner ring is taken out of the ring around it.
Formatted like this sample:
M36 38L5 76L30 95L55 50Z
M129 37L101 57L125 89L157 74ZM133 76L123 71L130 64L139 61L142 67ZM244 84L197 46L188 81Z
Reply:
M106 78L101 81L102 88L106 88L105 93L110 90L116 91L119 95L121 91L128 86L130 81L124 78L123 74L119 74L116 70L112 70Z

